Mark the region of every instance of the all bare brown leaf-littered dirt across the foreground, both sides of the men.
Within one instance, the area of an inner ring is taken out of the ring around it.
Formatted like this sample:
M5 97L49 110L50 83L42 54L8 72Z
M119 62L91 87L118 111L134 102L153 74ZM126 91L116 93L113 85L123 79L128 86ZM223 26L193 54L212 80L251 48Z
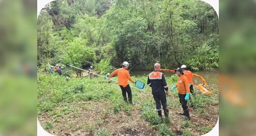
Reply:
M217 87L210 86L208 90L212 91L214 88L216 90ZM199 90L198 93L200 93ZM152 96L149 94L147 96L148 98L145 98L143 95L139 95L138 97L143 100L150 99ZM167 99L175 103L178 101L178 98L174 96L169 96ZM157 135L158 130L151 128L149 123L143 117L140 117L140 103L137 102L136 105L132 106L131 115L128 115L124 111L114 114L113 106L108 106L111 104L112 102L110 100L103 102L87 101L72 103L71 105L73 107L69 111L63 112L63 109L57 108L55 111L46 112L38 116L38 119L43 128L46 122L54 122L53 127L46 131L56 136L95 136L98 135L98 130L102 128L108 130L111 136ZM62 106L59 105L58 107ZM198 131L198 128L202 126L213 128L218 120L218 107L218 102L207 105L201 113L198 113L198 109L191 108L189 130L199 136L204 133ZM171 120L169 129L176 133L177 136L181 135L185 129L182 125L184 116L179 114L182 111L182 107L181 105L168 106L168 109ZM58 113L64 114L59 115Z

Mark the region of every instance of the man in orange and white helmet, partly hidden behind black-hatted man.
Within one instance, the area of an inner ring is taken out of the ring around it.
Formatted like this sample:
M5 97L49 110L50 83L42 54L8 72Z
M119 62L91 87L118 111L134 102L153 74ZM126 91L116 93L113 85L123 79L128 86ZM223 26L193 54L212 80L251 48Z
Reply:
M182 66L181 66L181 69L182 69L184 75L185 75L185 76L187 77L187 79L188 79L188 85L189 85L190 93L191 93L192 95L195 95L195 94L194 94L194 89L193 89L193 81L192 81L192 78L194 77L194 75L193 75L193 73L192 73L191 71L186 70L186 68L187 68L186 65L182 65ZM192 102L192 100L191 100L191 96L189 96L189 101L190 101L191 107L193 107L194 105L193 105L193 102Z

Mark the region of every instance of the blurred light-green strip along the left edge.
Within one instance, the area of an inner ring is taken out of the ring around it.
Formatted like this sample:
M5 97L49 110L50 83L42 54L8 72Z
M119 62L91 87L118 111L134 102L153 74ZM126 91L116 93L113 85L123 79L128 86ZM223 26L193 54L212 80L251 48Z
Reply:
M0 135L37 135L37 1L0 0Z

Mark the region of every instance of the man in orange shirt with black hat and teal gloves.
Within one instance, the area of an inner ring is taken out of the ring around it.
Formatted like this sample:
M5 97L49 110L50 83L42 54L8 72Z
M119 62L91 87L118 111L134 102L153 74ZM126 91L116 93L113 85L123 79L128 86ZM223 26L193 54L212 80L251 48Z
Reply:
M184 112L182 115L186 116L185 120L190 120L188 105L187 105L187 100L189 99L189 94L190 94L188 79L182 72L181 68L177 68L174 71L178 75L178 80L176 85L173 85L173 87L171 88L171 91L173 91L173 89L176 87L178 88L180 103L182 105L183 112Z

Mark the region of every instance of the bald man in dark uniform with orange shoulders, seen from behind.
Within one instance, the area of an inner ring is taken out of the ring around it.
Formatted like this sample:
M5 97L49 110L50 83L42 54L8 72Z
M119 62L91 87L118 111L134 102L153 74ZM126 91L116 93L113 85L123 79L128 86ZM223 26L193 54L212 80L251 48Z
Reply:
M165 80L165 76L160 72L161 65L156 63L154 65L154 72L151 72L147 77L147 85L152 88L152 95L156 102L156 110L158 116L162 117L161 104L163 106L163 112L165 117L168 117L169 110L167 109L166 94L169 95L168 86ZM165 94L166 90L166 94Z

